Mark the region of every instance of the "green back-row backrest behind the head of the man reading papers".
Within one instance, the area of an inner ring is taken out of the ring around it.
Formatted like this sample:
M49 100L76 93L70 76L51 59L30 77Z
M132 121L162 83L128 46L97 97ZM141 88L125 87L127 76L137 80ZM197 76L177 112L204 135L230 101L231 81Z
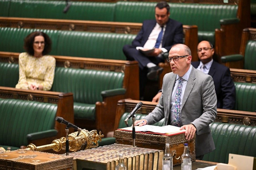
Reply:
M115 21L138 22L154 19L154 2L116 3ZM184 25L197 25L199 31L220 28L220 19L235 18L237 5L169 3L170 18Z

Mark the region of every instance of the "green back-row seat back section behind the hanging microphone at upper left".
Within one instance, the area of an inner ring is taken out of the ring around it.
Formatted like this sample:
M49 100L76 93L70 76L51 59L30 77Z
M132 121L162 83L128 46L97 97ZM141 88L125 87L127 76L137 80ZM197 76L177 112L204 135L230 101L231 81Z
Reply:
M71 3L71 2L70 2ZM74 2L66 13L65 1L12 0L9 17L113 21L115 3Z

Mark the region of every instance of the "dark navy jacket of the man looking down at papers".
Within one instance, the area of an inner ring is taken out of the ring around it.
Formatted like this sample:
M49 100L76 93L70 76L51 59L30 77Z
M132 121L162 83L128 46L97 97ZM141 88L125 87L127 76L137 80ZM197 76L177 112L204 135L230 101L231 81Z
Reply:
M132 41L132 46L143 47L155 26L156 26L156 20L145 20L143 22L140 32L137 34L136 38ZM173 19L169 19L166 23L166 29L164 31L162 47L170 51L171 46L178 43L183 43L182 23L175 21Z

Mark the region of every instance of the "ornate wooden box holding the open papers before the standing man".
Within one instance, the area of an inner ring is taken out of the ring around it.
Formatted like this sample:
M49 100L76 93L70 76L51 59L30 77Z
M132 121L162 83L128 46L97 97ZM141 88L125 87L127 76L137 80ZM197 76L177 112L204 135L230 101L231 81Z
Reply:
M132 132L116 130L115 138L117 144L132 145ZM166 143L170 144L170 152L174 155L173 166L181 164L184 143L188 143L192 162L195 161L195 137L188 141L184 133L172 136L136 133L135 145L138 147L165 150Z

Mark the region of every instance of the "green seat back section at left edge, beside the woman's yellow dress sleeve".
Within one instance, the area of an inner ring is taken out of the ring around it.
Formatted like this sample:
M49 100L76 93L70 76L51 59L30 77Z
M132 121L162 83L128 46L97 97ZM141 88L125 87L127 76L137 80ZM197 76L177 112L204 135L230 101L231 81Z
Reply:
M0 86L15 87L18 80L18 64L0 63Z

